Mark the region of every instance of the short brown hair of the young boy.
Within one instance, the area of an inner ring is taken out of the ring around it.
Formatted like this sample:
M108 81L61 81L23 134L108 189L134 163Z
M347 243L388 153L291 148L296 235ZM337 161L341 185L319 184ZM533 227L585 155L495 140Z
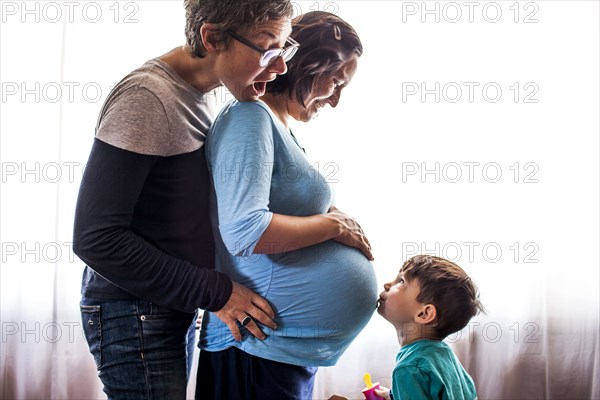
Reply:
M463 329L483 311L479 291L466 272L441 257L418 255L406 261L400 272L405 280L417 279L417 301L433 304L437 311L434 329L442 340Z

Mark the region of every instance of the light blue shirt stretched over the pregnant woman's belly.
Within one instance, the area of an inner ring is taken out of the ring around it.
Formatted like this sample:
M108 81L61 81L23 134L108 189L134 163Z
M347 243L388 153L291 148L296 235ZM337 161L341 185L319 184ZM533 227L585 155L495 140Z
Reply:
M334 365L369 321L377 300L371 263L355 248L329 240L278 254L254 254L273 213L326 213L332 190L290 132L261 102L228 104L211 127L206 157L213 182L209 209L216 268L265 297L278 329L265 341L247 332L236 342L214 315L203 320L200 346L237 346L269 360Z

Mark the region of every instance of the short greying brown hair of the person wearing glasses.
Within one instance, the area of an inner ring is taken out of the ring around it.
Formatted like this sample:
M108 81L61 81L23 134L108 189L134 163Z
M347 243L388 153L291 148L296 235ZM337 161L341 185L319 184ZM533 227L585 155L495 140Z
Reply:
M215 25L221 32L227 29L243 35L251 27L267 21L292 17L290 0L184 0L185 37L194 57L203 58L206 49L200 37L204 23ZM225 48L231 38L223 34Z

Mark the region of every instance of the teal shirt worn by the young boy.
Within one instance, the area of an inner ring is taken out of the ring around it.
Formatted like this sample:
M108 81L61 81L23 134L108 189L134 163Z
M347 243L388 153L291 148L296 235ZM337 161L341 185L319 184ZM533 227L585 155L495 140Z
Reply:
M392 376L394 400L477 398L475 384L445 342L421 339L403 346Z

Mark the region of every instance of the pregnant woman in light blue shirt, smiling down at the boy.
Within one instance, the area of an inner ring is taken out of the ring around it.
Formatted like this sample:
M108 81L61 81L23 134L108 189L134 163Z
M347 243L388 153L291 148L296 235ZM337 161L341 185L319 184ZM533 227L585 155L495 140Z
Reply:
M329 184L288 128L336 107L362 45L339 17L308 13L292 24L300 43L287 75L263 101L229 103L207 139L217 269L273 306L276 329L256 340L207 313L196 397L309 399L318 366L334 365L369 321L377 300L370 245L332 205ZM257 52L264 51L237 34ZM232 329L230 331L230 328Z

